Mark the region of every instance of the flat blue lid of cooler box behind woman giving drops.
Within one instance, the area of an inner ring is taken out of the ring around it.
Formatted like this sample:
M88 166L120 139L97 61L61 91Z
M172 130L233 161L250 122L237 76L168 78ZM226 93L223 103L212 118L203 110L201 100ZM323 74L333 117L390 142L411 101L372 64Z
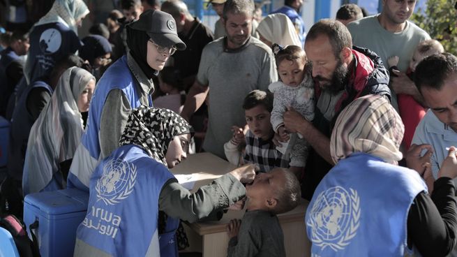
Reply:
M89 193L78 189L30 193L25 196L24 202L50 215L85 212Z

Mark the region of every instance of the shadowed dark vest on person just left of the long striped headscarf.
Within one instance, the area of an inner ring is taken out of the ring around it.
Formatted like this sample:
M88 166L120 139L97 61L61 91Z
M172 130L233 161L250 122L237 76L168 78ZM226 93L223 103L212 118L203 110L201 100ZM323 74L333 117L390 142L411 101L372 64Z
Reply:
M35 119L27 110L27 97L31 89L43 87L50 95L54 92L50 85L43 81L33 82L17 101L13 112L10 128L10 144L8 145L8 175L16 180L22 181L22 169L24 168L25 152L27 151L27 142L29 142L29 133Z

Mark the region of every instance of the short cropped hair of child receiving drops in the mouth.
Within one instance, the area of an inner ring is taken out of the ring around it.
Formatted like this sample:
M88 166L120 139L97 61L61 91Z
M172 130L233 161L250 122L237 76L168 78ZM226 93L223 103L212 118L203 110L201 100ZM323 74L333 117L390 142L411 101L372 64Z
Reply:
M276 169L276 168L275 168ZM275 214L281 214L293 210L299 205L301 198L301 188L299 179L292 173L292 171L285 168L278 168L284 172L285 183L278 191L276 191L276 207L274 207Z

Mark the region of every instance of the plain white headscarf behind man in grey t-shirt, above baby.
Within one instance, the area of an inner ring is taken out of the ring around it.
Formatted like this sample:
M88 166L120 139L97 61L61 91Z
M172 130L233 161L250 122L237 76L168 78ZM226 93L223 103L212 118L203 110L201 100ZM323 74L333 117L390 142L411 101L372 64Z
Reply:
M257 32L271 43L282 46L298 45L303 48L294 24L283 13L274 13L264 17L257 27Z

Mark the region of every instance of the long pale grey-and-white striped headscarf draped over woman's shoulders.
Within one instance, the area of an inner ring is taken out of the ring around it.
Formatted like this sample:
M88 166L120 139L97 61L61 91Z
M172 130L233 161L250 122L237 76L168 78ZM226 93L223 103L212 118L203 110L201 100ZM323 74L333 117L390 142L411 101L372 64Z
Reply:
M77 99L90 80L95 78L89 71L68 68L31 127L22 176L24 196L44 189L59 171L59 163L73 159L83 131Z

